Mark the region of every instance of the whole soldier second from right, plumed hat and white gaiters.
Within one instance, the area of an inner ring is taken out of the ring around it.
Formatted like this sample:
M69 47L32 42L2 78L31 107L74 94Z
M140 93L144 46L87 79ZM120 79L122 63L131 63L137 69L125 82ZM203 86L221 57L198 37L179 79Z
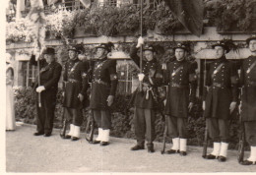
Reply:
M223 162L226 160L229 139L228 121L237 102L238 75L233 63L224 56L229 51L224 41L214 44L213 49L217 60L207 66L203 109L214 150L206 158L218 158Z

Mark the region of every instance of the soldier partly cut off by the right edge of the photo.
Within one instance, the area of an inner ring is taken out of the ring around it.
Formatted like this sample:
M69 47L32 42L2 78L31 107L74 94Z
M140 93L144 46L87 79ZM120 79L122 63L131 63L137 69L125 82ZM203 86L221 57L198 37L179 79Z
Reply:
M240 84L242 86L241 116L244 122L246 142L250 156L243 165L256 164L256 35L246 39L251 56L242 62Z

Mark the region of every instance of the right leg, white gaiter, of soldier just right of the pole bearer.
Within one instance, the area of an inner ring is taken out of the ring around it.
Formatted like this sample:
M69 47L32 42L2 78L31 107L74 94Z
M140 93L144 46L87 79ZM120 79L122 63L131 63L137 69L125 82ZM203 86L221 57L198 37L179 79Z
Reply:
M177 130L179 136L179 150L180 155L184 156L187 154L187 118L178 117L177 118Z

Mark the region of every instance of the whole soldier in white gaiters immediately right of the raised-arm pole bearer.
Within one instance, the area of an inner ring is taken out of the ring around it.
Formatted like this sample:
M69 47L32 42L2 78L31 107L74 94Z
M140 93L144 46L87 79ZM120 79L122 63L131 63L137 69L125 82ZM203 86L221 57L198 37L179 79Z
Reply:
M185 45L179 43L174 51L176 60L168 63L165 78L165 84L168 85L165 115L168 135L172 138L172 147L167 153L180 153L184 156L187 154L188 111L191 110L196 96L197 64L185 59Z

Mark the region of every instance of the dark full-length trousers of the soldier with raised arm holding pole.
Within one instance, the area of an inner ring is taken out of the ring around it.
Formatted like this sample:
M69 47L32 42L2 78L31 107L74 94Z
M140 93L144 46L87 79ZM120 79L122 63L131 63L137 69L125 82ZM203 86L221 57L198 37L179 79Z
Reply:
M155 111L152 109L143 109L135 107L134 113L134 126L135 126L135 136L138 145L144 145L145 135L147 145L153 145L155 140Z

